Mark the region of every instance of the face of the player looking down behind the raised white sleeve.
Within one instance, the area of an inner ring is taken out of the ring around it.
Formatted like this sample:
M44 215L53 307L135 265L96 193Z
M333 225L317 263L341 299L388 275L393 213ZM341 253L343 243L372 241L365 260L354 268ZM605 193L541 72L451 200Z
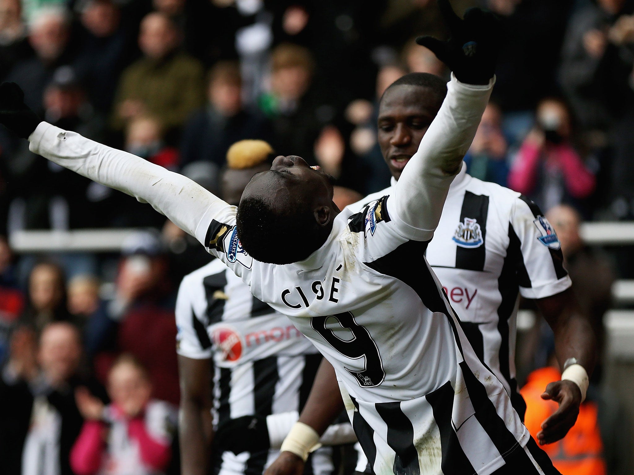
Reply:
M427 87L397 85L385 91L378 108L378 144L395 179L418 150L441 104Z

